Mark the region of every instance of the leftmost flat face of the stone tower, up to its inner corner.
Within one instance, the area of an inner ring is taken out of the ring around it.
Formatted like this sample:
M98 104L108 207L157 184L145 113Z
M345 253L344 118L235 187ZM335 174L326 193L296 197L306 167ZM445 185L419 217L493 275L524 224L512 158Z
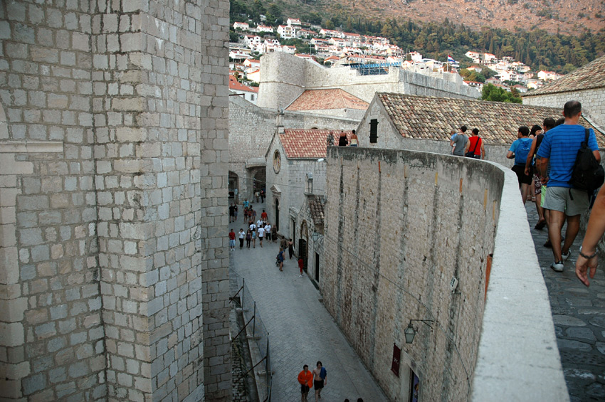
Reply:
M7 400L107 396L92 31L88 4L0 4L0 396Z

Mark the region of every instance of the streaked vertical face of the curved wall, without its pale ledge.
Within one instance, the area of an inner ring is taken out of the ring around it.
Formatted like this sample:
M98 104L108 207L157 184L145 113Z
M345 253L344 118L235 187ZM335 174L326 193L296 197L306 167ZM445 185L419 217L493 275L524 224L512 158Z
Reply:
M411 369L423 399L470 396L502 189L502 171L480 161L330 148L321 291L391 400L407 400ZM432 329L414 323L406 344L411 319Z

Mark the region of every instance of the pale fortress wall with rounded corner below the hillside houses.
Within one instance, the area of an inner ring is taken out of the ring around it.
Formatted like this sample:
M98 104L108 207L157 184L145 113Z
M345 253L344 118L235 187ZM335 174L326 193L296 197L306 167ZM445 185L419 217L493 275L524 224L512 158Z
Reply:
M295 55L275 52L261 58L261 86L257 105L277 109L288 107L304 90L341 88L366 102L376 92L477 99L475 88L463 85L459 76L443 78L401 68L389 68L384 75L360 75L351 68L322 68ZM452 79L456 77L456 79Z

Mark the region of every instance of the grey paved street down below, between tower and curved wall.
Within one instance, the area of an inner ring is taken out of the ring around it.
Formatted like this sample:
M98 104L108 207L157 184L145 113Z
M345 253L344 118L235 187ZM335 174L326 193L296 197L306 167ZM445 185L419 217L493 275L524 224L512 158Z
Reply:
M264 204L254 203L258 216ZM242 208L240 208L241 210ZM229 228L237 233L243 225L241 213ZM246 286L256 301L269 332L271 362L273 364L273 402L300 401L298 373L304 364L310 369L318 360L327 369L327 386L322 391L322 402L342 402L344 398L367 402L386 401L386 396L372 375L344 338L335 321L320 302L320 292L305 275L299 277L298 263L286 260L284 270L275 267L278 243L266 243L263 248L229 251L231 267L246 280ZM308 400L315 401L313 391Z

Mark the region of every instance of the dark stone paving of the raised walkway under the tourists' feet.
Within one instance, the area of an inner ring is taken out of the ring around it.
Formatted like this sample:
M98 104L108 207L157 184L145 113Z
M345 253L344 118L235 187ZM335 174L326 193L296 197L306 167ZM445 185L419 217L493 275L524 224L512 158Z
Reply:
M548 288L569 398L572 402L605 401L605 261L599 261L590 287L579 282L575 264L584 237L581 231L563 273L554 272L549 268L554 260L552 250L543 246L547 228L534 228L538 219L535 203L527 201L525 209Z

